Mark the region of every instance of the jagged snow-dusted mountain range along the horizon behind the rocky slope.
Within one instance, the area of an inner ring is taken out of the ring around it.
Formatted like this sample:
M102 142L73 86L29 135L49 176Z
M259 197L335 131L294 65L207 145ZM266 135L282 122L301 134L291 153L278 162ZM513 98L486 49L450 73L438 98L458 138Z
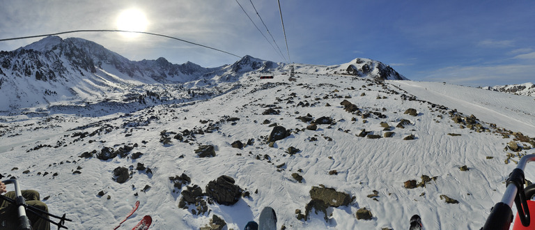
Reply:
M245 75L288 70L354 75L374 79L407 79L379 61L355 59L337 66L274 63L244 56L231 65L203 68L195 63L130 61L82 38L49 36L11 52L0 52L0 111L125 100L146 93L153 84L206 89L238 82Z

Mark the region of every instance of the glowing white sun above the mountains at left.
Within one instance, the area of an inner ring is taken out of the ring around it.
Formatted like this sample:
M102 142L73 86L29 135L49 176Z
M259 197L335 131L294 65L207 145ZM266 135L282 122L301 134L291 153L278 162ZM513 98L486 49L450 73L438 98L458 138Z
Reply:
M121 31L144 32L147 29L148 21L143 11L138 9L123 10L117 17L117 29ZM127 38L136 38L139 33L121 33Z

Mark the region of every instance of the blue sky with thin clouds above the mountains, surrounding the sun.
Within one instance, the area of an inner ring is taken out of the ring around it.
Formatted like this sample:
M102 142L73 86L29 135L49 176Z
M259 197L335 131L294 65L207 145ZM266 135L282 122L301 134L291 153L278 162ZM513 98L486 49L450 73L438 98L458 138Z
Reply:
M238 0L269 38L249 0ZM254 6L287 56L277 1ZM284 61L235 0L8 1L0 0L0 38L76 29L116 29L128 8L143 11L148 32L162 33L245 56ZM335 65L375 59L416 81L466 86L535 83L535 1L281 0L290 60ZM71 33L131 60L192 61L222 66L235 56L177 40L117 33ZM13 50L36 39L1 42ZM286 57L287 59L287 57Z

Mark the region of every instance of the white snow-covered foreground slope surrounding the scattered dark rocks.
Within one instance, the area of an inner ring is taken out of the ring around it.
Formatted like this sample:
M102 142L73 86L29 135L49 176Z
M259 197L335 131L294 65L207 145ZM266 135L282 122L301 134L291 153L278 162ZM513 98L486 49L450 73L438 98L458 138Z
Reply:
M514 135L497 132L503 128L535 137L532 97L438 82L385 81L383 86L366 77L315 72L313 67L307 71L304 65L296 68L295 81L288 81L286 72L288 66L274 70L273 79L247 72L239 76L240 87L222 95L130 114L94 109L92 116L68 111L1 116L0 173L15 176L22 189L38 190L50 213L67 213L73 220L66 223L69 229L111 229L138 200L138 210L119 229L134 227L144 215L153 219L150 229L199 229L212 215L221 217L227 229L243 229L251 220L258 222L265 206L276 210L278 229L408 229L414 214L421 216L425 229L480 229L502 198L504 181L516 166L513 160L520 159L506 160L508 153L535 153L535 146L520 141L532 149L511 151L507 144ZM403 100L403 95L416 100ZM343 100L370 116L346 112ZM263 115L269 108L279 114ZM417 116L404 114L407 109L416 109ZM463 118L473 114L482 131L461 128L449 114L453 109ZM297 119L307 114L334 123L307 130L310 124ZM410 124L397 128L402 119ZM266 140L274 123L291 132L270 147ZM217 129L198 132L188 143L172 138L209 125ZM95 130L97 135L75 135ZM357 137L362 130L381 138ZM394 135L384 137L385 132ZM162 143L168 134L170 142ZM414 139L404 140L408 135ZM254 139L252 145L231 146L249 139ZM127 158L79 157L134 144ZM40 145L45 147L36 148ZM216 156L199 158L194 152L199 145L215 146ZM300 151L289 154L289 147ZM137 152L141 158L132 159ZM152 173L137 170L138 163ZM468 170L461 171L463 166ZM125 183L114 181L117 167L130 168ZM333 170L336 174L329 174ZM301 183L293 173L303 177ZM199 185L203 192L208 182L226 175L250 197L232 206L208 202L210 211L199 215L192 212L194 205L178 208L186 185L173 192L169 178L181 174L191 178L187 185ZM420 182L422 175L436 178L424 187L405 188L406 181ZM526 178L535 181L535 164L527 164ZM320 185L354 199L348 206L327 208L327 221L321 212L297 220L296 210L304 213L311 201L311 187ZM442 195L458 203L449 204ZM371 211L371 220L357 220L360 208Z

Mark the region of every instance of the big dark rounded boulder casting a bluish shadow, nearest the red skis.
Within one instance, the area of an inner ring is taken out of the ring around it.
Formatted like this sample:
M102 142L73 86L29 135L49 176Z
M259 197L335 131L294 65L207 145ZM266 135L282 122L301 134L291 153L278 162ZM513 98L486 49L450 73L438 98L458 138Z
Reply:
M219 176L215 181L208 182L206 194L214 199L217 204L233 205L240 200L242 189L234 184L234 179L230 176Z

